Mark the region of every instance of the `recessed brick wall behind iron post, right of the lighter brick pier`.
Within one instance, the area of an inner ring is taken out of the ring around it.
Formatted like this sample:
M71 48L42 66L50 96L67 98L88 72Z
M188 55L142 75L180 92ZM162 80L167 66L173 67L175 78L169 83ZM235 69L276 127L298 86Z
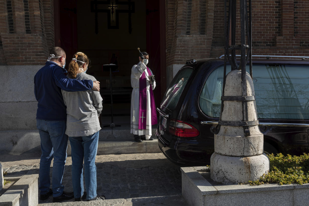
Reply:
M293 0L252 1L252 54L309 56L307 3ZM224 1L218 0L215 8L210 57L224 54Z

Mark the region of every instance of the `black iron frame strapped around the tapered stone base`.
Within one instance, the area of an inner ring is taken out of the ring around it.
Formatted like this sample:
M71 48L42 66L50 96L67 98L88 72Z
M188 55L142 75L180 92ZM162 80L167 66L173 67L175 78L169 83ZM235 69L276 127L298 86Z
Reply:
M227 5L228 2L228 19ZM218 126L212 127L210 130L214 134L218 134L221 125L229 126L244 126L245 137L250 136L249 126L257 125L258 121L248 121L247 101L255 100L255 96L247 96L247 81L246 81L246 65L249 61L250 76L252 78L252 19L251 19L251 0L239 0L240 7L240 45L236 45L236 0L225 0L224 2L225 16L225 47L224 47L224 74L223 74L223 91L221 102L221 113ZM249 7L249 9L248 9ZM240 60L236 59L236 51L240 50ZM226 97L224 96L224 88L226 83L226 62L231 64L231 70L241 70L242 97ZM225 122L222 121L222 112L224 101L242 101L243 104L243 120L240 122Z

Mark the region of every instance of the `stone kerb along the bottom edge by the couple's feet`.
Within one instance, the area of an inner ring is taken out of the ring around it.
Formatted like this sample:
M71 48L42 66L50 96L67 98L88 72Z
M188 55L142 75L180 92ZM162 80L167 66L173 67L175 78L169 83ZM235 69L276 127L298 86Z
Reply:
M72 201L72 200L69 200ZM74 201L74 199L73 199ZM96 200L89 202L62 202L62 203L41 203L38 206L75 206L75 205L103 205L103 206L188 206L181 195L141 197L130 199Z

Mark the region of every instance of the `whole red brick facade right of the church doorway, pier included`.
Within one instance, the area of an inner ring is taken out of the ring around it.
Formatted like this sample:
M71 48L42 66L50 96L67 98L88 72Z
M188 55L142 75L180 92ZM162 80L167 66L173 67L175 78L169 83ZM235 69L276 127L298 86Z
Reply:
M309 56L307 2L252 1L253 55ZM199 32L204 26L203 10L205 34ZM167 65L219 57L224 54L224 0L166 0L166 28Z

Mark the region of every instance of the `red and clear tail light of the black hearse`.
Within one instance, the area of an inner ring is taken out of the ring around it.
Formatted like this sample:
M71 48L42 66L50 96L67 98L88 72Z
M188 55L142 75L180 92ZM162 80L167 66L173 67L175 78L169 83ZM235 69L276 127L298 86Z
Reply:
M200 132L197 128L186 122L171 119L169 132L177 137L197 137Z

